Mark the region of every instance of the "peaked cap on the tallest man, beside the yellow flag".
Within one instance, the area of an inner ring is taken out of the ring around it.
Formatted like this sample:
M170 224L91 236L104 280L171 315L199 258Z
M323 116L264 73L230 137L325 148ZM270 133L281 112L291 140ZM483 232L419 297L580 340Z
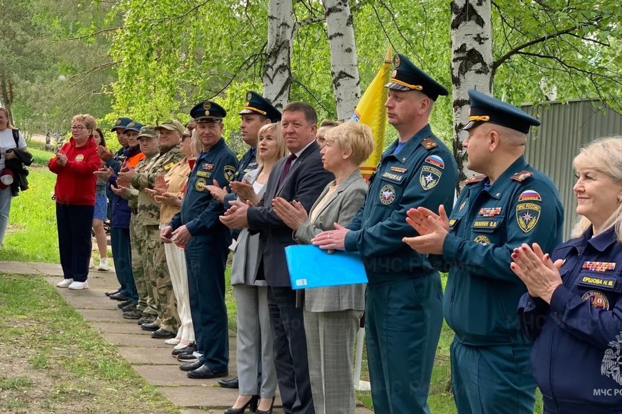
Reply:
M395 70L391 73L389 82L385 88L395 90L418 90L430 97L433 101L439 95L446 96L447 90L437 81L432 79L426 72L413 65L413 62L399 53L393 57Z

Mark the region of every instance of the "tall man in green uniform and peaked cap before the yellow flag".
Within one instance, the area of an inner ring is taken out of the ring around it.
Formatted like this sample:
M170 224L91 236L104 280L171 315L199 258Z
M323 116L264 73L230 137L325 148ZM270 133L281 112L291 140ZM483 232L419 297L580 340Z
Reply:
M442 326L440 276L402 237L416 235L409 208L451 211L458 168L428 124L447 90L403 55L386 85L389 124L399 138L382 155L359 214L347 228L320 233L321 248L358 251L369 279L365 328L374 409L384 414L429 413L428 390Z

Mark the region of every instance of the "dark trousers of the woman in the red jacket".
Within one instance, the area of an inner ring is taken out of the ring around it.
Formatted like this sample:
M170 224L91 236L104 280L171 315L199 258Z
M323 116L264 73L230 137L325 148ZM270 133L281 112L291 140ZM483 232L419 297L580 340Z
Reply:
M95 206L56 204L58 250L65 279L85 282L91 259L91 228Z

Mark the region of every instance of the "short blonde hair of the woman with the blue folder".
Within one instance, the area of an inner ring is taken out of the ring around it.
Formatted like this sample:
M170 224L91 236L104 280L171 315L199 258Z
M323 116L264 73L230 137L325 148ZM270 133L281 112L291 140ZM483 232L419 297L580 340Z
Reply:
M350 148L352 150L352 161L357 166L363 164L374 150L371 128L365 124L359 124L357 121L352 121L352 119L328 130L324 138L344 150Z

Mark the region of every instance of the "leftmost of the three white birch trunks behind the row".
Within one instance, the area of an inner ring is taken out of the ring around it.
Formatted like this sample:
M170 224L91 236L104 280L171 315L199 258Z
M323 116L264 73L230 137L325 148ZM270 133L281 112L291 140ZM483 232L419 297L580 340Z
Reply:
M294 6L292 0L270 0L263 96L279 109L290 100L292 86L290 59L293 38Z

